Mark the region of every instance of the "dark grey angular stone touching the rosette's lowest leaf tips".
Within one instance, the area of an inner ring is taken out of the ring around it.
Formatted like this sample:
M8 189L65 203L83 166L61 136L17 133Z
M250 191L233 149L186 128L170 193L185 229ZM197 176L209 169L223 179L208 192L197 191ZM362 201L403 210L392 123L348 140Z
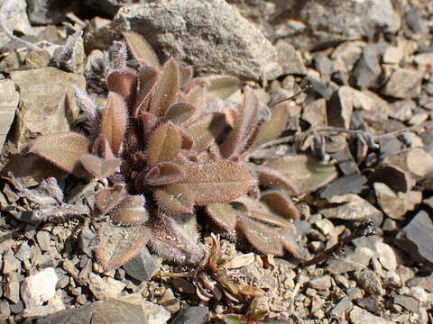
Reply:
M137 257L124 265L124 271L134 279L149 281L160 269L160 266L149 253L149 250L144 247Z

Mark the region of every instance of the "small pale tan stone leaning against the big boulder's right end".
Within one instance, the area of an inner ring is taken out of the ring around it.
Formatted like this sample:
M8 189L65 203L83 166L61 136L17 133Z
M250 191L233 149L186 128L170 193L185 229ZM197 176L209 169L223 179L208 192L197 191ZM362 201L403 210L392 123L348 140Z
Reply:
M285 40L278 40L275 43L278 52L278 61L282 67L282 74L305 75L306 69L296 49Z

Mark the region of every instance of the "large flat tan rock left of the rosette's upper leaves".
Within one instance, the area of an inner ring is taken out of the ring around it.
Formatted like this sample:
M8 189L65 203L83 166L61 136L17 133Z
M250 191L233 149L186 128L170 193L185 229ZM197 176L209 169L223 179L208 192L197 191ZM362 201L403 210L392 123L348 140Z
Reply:
M11 72L11 78L19 87L21 101L16 113L13 139L17 151L37 135L70 130L69 119L76 114L70 111L73 106L70 101L72 86L84 90L84 76L44 67L14 71Z

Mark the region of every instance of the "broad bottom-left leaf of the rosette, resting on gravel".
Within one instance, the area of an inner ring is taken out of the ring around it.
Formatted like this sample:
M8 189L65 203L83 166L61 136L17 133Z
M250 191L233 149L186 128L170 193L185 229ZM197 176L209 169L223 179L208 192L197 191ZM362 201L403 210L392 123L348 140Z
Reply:
M102 222L97 234L97 262L112 270L140 253L151 237L151 230L144 225L131 228Z

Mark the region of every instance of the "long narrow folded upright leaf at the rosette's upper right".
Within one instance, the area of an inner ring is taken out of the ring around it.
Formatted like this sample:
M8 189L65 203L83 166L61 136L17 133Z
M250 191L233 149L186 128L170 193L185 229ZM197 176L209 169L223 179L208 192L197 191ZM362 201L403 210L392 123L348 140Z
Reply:
M244 103L242 103L235 127L221 145L223 157L237 157L244 153L259 120L259 101L250 86L245 87Z

